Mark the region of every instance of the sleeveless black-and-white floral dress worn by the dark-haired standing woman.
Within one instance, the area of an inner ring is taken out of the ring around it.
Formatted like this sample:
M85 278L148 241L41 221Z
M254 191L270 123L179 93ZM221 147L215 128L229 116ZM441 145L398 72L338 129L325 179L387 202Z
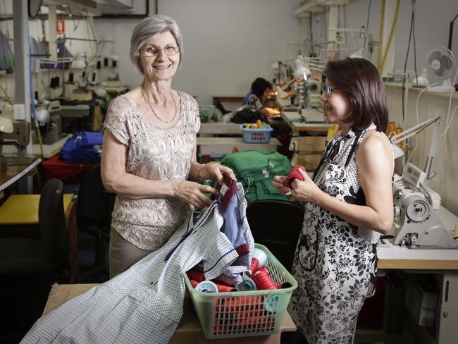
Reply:
M356 152L367 131L375 129L372 123L328 142L313 178L318 188L342 202L366 204ZM359 310L375 292L379 237L317 204L306 204L292 268L299 287L289 311L309 344L353 343Z

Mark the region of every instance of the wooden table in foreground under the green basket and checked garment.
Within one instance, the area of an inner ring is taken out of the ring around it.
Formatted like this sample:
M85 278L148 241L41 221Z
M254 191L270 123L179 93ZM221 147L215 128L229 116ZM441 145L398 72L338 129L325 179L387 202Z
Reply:
M46 306L44 307L43 314L51 312L52 309L62 305L63 302L72 299L82 293L85 293L90 288L97 284L62 284L53 285ZM263 344L274 344L280 343L281 332L292 332L296 331L296 326L290 317L290 314L285 313L283 322L281 324L280 333L273 334L271 336L252 336L242 338L224 338L224 339L206 339L200 326L197 314L192 306L189 297L185 297L183 305L183 316L178 324L178 328L175 334L168 343L178 344L192 344L192 343L218 343L218 344L229 344L229 343L263 343Z

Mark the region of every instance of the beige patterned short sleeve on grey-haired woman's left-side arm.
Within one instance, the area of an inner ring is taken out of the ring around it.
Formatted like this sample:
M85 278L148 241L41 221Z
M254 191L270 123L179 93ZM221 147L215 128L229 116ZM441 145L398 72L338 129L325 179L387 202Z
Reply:
M106 111L104 129L110 130L116 139L123 145L130 145L130 133L128 128L128 109L130 104L123 97L117 97L110 103Z

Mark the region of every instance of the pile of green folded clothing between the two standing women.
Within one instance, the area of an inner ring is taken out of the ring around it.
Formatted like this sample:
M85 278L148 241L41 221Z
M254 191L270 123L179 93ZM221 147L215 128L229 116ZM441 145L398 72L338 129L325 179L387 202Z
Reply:
M287 176L291 171L290 161L283 154L247 150L226 155L221 164L232 168L245 188L248 203L258 199L289 200L272 185L274 176Z

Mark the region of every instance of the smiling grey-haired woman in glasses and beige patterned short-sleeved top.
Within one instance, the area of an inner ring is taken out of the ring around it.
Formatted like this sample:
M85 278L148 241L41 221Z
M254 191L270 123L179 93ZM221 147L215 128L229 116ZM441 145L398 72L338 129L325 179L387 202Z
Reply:
M172 90L182 63L180 27L167 16L144 18L134 28L130 59L144 76L134 90L110 104L104 123L101 178L116 192L110 235L110 276L159 249L189 216L206 207L205 194L218 191L197 183L230 168L196 161L199 106Z

